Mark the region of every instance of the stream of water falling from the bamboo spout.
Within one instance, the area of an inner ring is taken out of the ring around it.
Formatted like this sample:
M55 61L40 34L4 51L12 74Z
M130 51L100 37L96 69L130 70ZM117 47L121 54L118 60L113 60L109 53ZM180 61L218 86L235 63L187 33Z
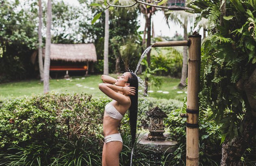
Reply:
M135 74L137 73L137 71L139 70L139 66L141 64L141 61L143 60L143 58L147 55L147 53L150 51L150 49L152 48L152 45L150 47L148 47L147 49L145 49L145 51L141 54L141 58L139 59L139 62L137 64L136 70L135 70ZM137 76L138 77L138 76ZM144 81L138 77L138 83L139 83L139 87L144 87ZM143 88L144 89L144 88ZM143 96L143 90L139 90L139 96ZM133 155L133 150L134 150L134 145L132 145L132 152L131 152L131 159L130 159L130 166L132 166L132 155Z

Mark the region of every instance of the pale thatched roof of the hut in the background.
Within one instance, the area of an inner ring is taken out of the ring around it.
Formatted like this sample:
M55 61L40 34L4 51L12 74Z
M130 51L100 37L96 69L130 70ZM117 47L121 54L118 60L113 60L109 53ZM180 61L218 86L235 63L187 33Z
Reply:
M74 45L51 44L50 59L71 62L95 62L97 61L97 55L93 43Z

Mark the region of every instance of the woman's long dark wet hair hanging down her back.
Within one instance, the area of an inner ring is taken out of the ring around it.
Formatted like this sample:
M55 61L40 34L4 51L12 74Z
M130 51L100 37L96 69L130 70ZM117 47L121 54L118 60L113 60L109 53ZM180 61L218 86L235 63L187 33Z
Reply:
M135 95L130 95L131 106L129 108L130 111L130 130L132 135L132 147L135 143L135 136L136 136L136 127L137 127L137 113L138 113L138 77L133 72L129 72L130 77L128 77L127 83L130 84L130 87L135 87L136 93Z

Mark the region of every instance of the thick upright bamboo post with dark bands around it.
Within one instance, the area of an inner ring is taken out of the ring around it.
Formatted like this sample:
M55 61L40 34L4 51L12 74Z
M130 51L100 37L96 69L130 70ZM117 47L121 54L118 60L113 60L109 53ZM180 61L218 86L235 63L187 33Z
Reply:
M187 93L187 166L199 164L199 98L201 35L189 36Z

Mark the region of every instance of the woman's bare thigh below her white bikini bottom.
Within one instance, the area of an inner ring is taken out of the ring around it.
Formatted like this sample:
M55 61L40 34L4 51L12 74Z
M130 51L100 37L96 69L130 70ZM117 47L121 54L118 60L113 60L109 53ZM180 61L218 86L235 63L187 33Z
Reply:
M120 141L112 141L105 143L104 146L105 148L103 147L102 153L102 166L104 166L103 159L106 161L106 166L119 166L119 153L123 148L123 143Z

